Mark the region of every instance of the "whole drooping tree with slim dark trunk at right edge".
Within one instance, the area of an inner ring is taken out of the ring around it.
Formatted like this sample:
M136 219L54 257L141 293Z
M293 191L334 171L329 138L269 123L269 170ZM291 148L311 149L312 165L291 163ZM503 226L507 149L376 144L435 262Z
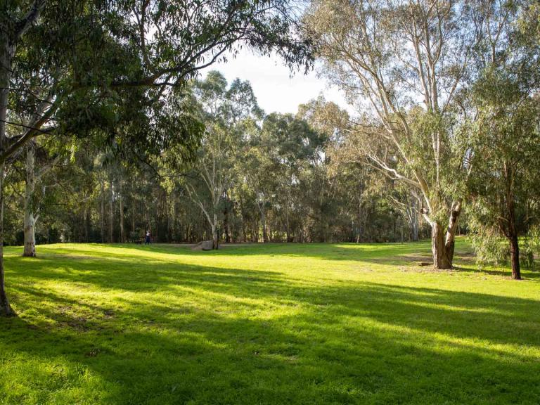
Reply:
M481 260L494 259L504 256L499 238L506 238L512 277L519 279L518 236L531 225L525 212L531 196L540 192L540 43L529 32L523 35L518 21L534 15L536 4L481 1L480 7L475 21L482 32L476 55L480 75L470 92L476 118L465 125L475 167L473 245Z

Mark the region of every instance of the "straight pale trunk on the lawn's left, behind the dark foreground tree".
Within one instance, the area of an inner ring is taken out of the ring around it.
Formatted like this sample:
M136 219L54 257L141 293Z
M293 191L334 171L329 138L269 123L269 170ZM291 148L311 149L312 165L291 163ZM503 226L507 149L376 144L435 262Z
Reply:
M34 142L30 141L26 146L26 184L25 184L25 215L24 233L25 245L23 256L36 257L36 220L34 210L35 179L35 148Z

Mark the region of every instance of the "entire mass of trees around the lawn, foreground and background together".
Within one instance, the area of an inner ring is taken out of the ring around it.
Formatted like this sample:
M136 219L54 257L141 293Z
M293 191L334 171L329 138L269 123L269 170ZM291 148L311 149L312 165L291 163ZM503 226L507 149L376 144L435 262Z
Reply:
M2 312L4 243L34 256L146 230L214 247L430 236L449 269L468 229L520 278L540 245L537 2L294 3L0 4ZM244 45L319 60L354 117L323 97L265 115L250 84L200 80Z

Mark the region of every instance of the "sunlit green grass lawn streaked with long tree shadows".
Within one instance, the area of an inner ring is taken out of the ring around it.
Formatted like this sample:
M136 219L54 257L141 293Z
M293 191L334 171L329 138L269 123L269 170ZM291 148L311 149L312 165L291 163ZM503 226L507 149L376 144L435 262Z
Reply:
M0 404L539 404L540 274L429 248L7 248Z

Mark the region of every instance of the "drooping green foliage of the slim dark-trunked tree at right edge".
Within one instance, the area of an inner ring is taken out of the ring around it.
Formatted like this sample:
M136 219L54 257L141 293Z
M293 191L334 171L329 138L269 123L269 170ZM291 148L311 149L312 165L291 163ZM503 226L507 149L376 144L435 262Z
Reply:
M535 69L535 51L510 46L508 37L515 35L515 26L506 20L506 9L497 12L505 34L493 44L497 52L491 52L472 86L476 117L466 126L473 167L468 181L473 198L470 226L477 235L474 245L480 262L498 261L508 254L508 248L496 240L504 237L510 244L517 243L518 235L525 235L538 217L540 177L535 166L540 159L540 109L535 93L539 87L527 74ZM528 241L521 257L533 266Z

